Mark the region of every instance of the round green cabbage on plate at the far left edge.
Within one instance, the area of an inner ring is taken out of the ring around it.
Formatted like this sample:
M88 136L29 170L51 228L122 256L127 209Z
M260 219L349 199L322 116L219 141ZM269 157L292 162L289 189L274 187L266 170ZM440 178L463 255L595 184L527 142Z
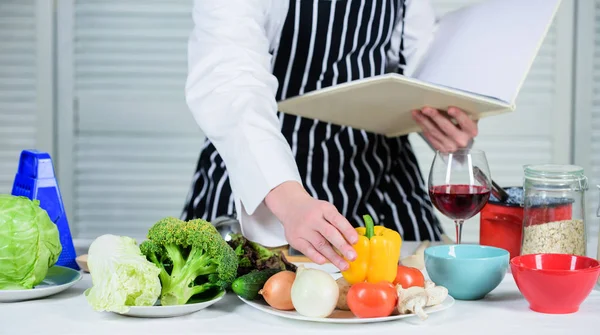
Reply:
M35 287L61 252L58 228L38 200L0 194L0 290Z

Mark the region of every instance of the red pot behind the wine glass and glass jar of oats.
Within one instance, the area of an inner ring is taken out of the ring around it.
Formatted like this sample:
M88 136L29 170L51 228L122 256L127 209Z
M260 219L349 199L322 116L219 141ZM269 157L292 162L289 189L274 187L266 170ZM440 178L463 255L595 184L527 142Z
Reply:
M507 191L509 189L522 191L522 187L505 188ZM572 215L571 208L571 203L535 208L530 211L529 224L568 220ZM511 259L519 256L523 216L520 204L503 203L490 198L479 216L479 244L507 250Z

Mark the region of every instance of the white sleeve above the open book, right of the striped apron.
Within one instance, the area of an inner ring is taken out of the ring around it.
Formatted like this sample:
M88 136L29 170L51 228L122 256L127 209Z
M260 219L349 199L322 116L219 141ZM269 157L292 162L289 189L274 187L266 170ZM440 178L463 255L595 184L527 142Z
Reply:
M398 66L403 39L404 75L410 77L434 37L437 20L430 0L406 0L404 11L392 34L388 61Z

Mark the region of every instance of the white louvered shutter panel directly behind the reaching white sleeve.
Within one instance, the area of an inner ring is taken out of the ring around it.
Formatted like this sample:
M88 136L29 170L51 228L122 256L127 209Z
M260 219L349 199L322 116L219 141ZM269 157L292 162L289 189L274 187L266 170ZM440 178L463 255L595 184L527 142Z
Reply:
M185 105L192 1L77 0L73 212L80 238L178 217L203 137Z

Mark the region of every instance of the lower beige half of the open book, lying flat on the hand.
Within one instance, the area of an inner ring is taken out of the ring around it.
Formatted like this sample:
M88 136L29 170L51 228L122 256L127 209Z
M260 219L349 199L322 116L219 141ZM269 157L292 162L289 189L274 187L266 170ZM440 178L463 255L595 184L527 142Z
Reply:
M282 113L362 129L389 137L421 131L412 110L456 106L478 120L512 111L496 99L447 89L390 73L355 80L280 101Z

